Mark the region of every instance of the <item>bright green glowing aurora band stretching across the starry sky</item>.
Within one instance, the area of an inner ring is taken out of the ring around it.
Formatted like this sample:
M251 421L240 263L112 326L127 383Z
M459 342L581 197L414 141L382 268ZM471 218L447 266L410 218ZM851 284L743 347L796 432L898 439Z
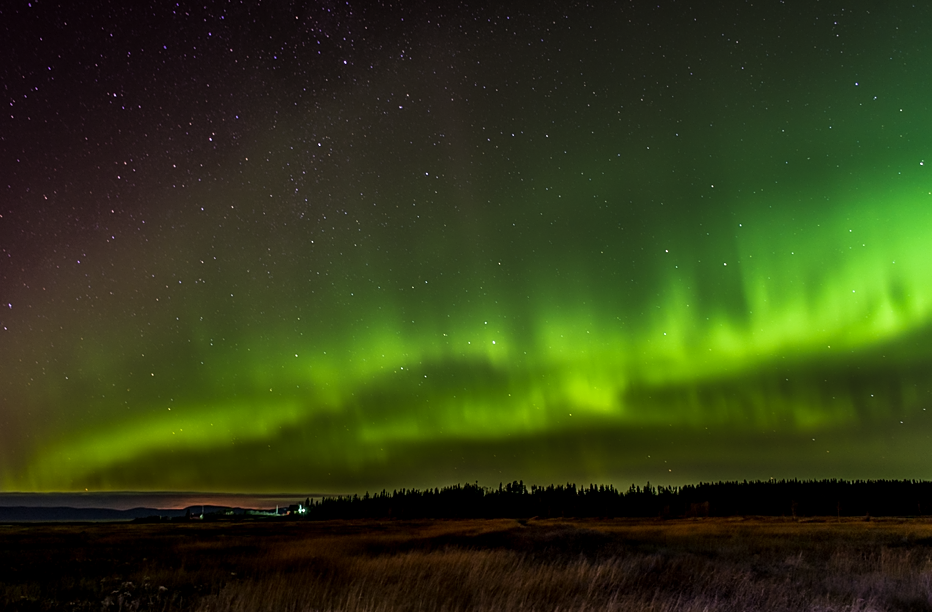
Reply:
M386 325L327 351L293 343L299 353L260 353L229 365L247 373L252 397L162 402L162 411L147 417L62 435L15 482L66 487L147 454L225 453L291 429L325 428L327 443L310 442L307 456L353 463L379 461L384 450L376 448L424 440L502 441L593 423L663 423L670 415L693 427L727 426L736 410L752 423L790 430L857 424L863 415L844 391L834 401L819 391L781 397L767 391L777 375L768 368L786 359L794 367L857 361L929 325L928 198L891 194L882 205L850 202L843 210L817 211L799 220L798 240L769 231L768 219L753 215L736 227L715 228L732 233L738 256L704 265L739 276L745 316L731 316L716 296L693 291L703 273L699 265L692 277L679 273L672 262L682 258L663 249L656 257L671 268L667 289L646 300L650 314L632 317L640 323L633 329L592 314L611 312L607 304L593 304L590 314L555 312L547 308L551 296L537 295L532 303L540 308L530 308L523 323L530 335L515 332L507 307L488 309L504 315L492 322L476 316L486 307L480 302L467 311L473 316L461 317L472 318L470 324L444 327L435 319L406 331ZM608 303L618 298L611 288L599 295ZM623 306L616 312L629 314ZM757 414L729 406L734 398L725 395L703 402L674 394L658 411L629 393L718 380L743 384L756 396Z

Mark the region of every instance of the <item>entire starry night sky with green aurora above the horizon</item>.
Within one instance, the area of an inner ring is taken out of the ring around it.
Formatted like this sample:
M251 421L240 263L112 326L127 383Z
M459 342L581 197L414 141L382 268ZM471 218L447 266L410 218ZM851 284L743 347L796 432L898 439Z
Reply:
M184 4L0 11L0 490L932 477L932 5Z

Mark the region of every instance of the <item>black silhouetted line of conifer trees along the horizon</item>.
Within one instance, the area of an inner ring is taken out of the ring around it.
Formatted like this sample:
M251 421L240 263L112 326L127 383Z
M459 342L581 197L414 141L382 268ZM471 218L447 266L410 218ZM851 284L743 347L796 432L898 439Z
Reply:
M309 519L555 518L697 516L921 516L932 514L932 482L918 480L779 480L709 482L682 487L523 481L401 489L312 502Z

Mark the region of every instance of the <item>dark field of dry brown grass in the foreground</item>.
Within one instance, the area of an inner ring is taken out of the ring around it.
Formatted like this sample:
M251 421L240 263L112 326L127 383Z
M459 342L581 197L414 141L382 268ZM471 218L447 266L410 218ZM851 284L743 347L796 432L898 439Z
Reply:
M932 610L932 521L0 526L4 610Z

